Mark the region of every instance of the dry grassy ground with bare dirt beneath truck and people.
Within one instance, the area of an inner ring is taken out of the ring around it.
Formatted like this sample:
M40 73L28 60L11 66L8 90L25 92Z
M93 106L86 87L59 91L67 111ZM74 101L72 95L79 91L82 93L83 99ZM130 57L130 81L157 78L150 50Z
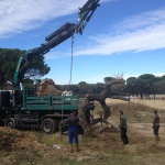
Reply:
M161 101L161 102L160 102ZM111 107L109 128L97 138L79 135L80 152L69 153L67 135L46 135L36 131L0 128L0 165L160 165L165 162L165 103L164 100L107 99ZM146 105L146 106L145 106ZM96 102L95 116L102 113ZM158 107L160 106L160 107ZM160 141L152 130L153 110L161 117ZM123 146L119 111L128 117L130 144ZM101 127L100 123L97 127ZM59 148L53 147L57 144Z

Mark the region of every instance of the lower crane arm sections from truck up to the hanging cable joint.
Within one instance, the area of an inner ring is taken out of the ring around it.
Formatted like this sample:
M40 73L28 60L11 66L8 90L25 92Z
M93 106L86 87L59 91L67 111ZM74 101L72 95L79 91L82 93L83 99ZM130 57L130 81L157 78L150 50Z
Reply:
M75 25L76 24L74 23L65 23L57 31L45 37L46 42L44 44L41 44L40 47L26 51L20 57L13 77L13 84L16 89L19 89L19 84L23 81L24 74L29 69L29 64L50 52L51 48L57 46L58 44L70 37L75 32Z

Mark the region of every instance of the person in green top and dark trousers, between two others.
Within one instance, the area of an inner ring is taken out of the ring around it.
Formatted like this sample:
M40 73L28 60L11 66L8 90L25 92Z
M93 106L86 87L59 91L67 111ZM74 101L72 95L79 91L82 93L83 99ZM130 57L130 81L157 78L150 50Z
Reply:
M120 111L120 131L121 131L121 140L124 145L129 144L129 139L127 135L127 129L128 129L128 123L127 123L127 117L123 114L123 111Z

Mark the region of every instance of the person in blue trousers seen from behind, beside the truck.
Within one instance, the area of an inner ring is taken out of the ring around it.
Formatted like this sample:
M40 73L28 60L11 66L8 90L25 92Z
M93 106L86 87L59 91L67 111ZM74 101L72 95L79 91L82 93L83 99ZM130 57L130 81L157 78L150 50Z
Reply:
M73 153L73 142L75 141L76 144L76 151L79 152L78 146L78 122L79 118L76 117L75 112L72 112L70 116L67 118L67 124L68 124L68 142L70 144L70 152Z

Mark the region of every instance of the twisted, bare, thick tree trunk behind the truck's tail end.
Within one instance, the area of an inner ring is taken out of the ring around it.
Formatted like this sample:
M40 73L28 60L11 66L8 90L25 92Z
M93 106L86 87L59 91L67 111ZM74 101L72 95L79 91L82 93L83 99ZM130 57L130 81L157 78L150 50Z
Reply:
M111 92L111 85L123 84L123 82L124 82L124 80L108 81L106 84L105 90L101 94L99 94L99 95L88 94L88 95L86 95L86 97L84 99L80 100L79 117L80 117L80 124L84 129L85 134L96 136L98 133L98 131L96 132L96 130L94 128L91 128L91 125L88 123L87 117L86 117L86 111L87 111L87 108L88 108L90 101L100 102L100 105L103 109L103 112L105 112L103 123L106 123L106 124L109 124L108 118L111 114L110 107L106 105L107 98L122 99L125 101L130 101L130 99L123 97L123 96L128 96L127 94L120 94L120 92L112 94ZM105 128L107 128L107 127L105 125L102 129L105 129ZM100 130L102 130L102 129L100 129Z

